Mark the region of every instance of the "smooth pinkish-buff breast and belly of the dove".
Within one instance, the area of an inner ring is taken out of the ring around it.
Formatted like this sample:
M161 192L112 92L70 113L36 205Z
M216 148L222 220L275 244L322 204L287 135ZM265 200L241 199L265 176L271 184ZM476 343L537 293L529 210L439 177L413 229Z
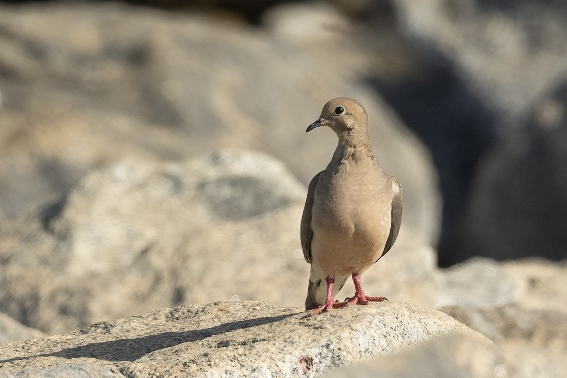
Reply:
M312 254L330 273L366 270L382 254L390 233L391 184L388 190L382 177L355 173L346 179L323 177L315 188Z

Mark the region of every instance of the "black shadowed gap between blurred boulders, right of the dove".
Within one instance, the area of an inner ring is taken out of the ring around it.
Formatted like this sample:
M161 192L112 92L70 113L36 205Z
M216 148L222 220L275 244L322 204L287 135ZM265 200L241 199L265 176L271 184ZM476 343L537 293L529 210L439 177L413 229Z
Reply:
M448 266L459 262L454 260L459 255L456 232L477 163L496 138L497 114L469 90L450 62L438 56L420 61L429 66L395 81L368 82L429 147L443 198L438 263Z

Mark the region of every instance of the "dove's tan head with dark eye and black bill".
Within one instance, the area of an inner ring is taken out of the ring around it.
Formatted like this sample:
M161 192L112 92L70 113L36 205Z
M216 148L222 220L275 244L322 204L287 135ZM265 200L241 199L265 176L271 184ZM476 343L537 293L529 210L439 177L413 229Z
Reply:
M337 135L356 132L363 129L366 132L368 116L362 105L347 97L337 97L328 101L321 111L318 120L308 126L307 131L311 131L319 126L329 126Z

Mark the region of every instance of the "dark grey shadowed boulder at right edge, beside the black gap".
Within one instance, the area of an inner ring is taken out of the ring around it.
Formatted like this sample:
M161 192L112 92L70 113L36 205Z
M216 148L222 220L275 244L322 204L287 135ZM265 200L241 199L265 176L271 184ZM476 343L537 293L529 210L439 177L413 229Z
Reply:
M505 260L565 258L567 77L529 120L484 158L473 182L460 250Z

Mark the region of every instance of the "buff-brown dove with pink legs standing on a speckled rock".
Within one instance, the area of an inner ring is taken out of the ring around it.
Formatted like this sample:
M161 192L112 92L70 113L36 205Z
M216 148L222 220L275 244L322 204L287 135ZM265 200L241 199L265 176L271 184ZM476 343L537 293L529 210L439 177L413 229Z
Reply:
M364 107L347 97L329 100L306 133L320 126L335 131L338 145L327 168L311 180L301 218L303 256L311 264L305 301L310 316L387 300L367 296L361 274L392 248L402 213L401 185L376 162ZM354 296L335 301L349 277Z

